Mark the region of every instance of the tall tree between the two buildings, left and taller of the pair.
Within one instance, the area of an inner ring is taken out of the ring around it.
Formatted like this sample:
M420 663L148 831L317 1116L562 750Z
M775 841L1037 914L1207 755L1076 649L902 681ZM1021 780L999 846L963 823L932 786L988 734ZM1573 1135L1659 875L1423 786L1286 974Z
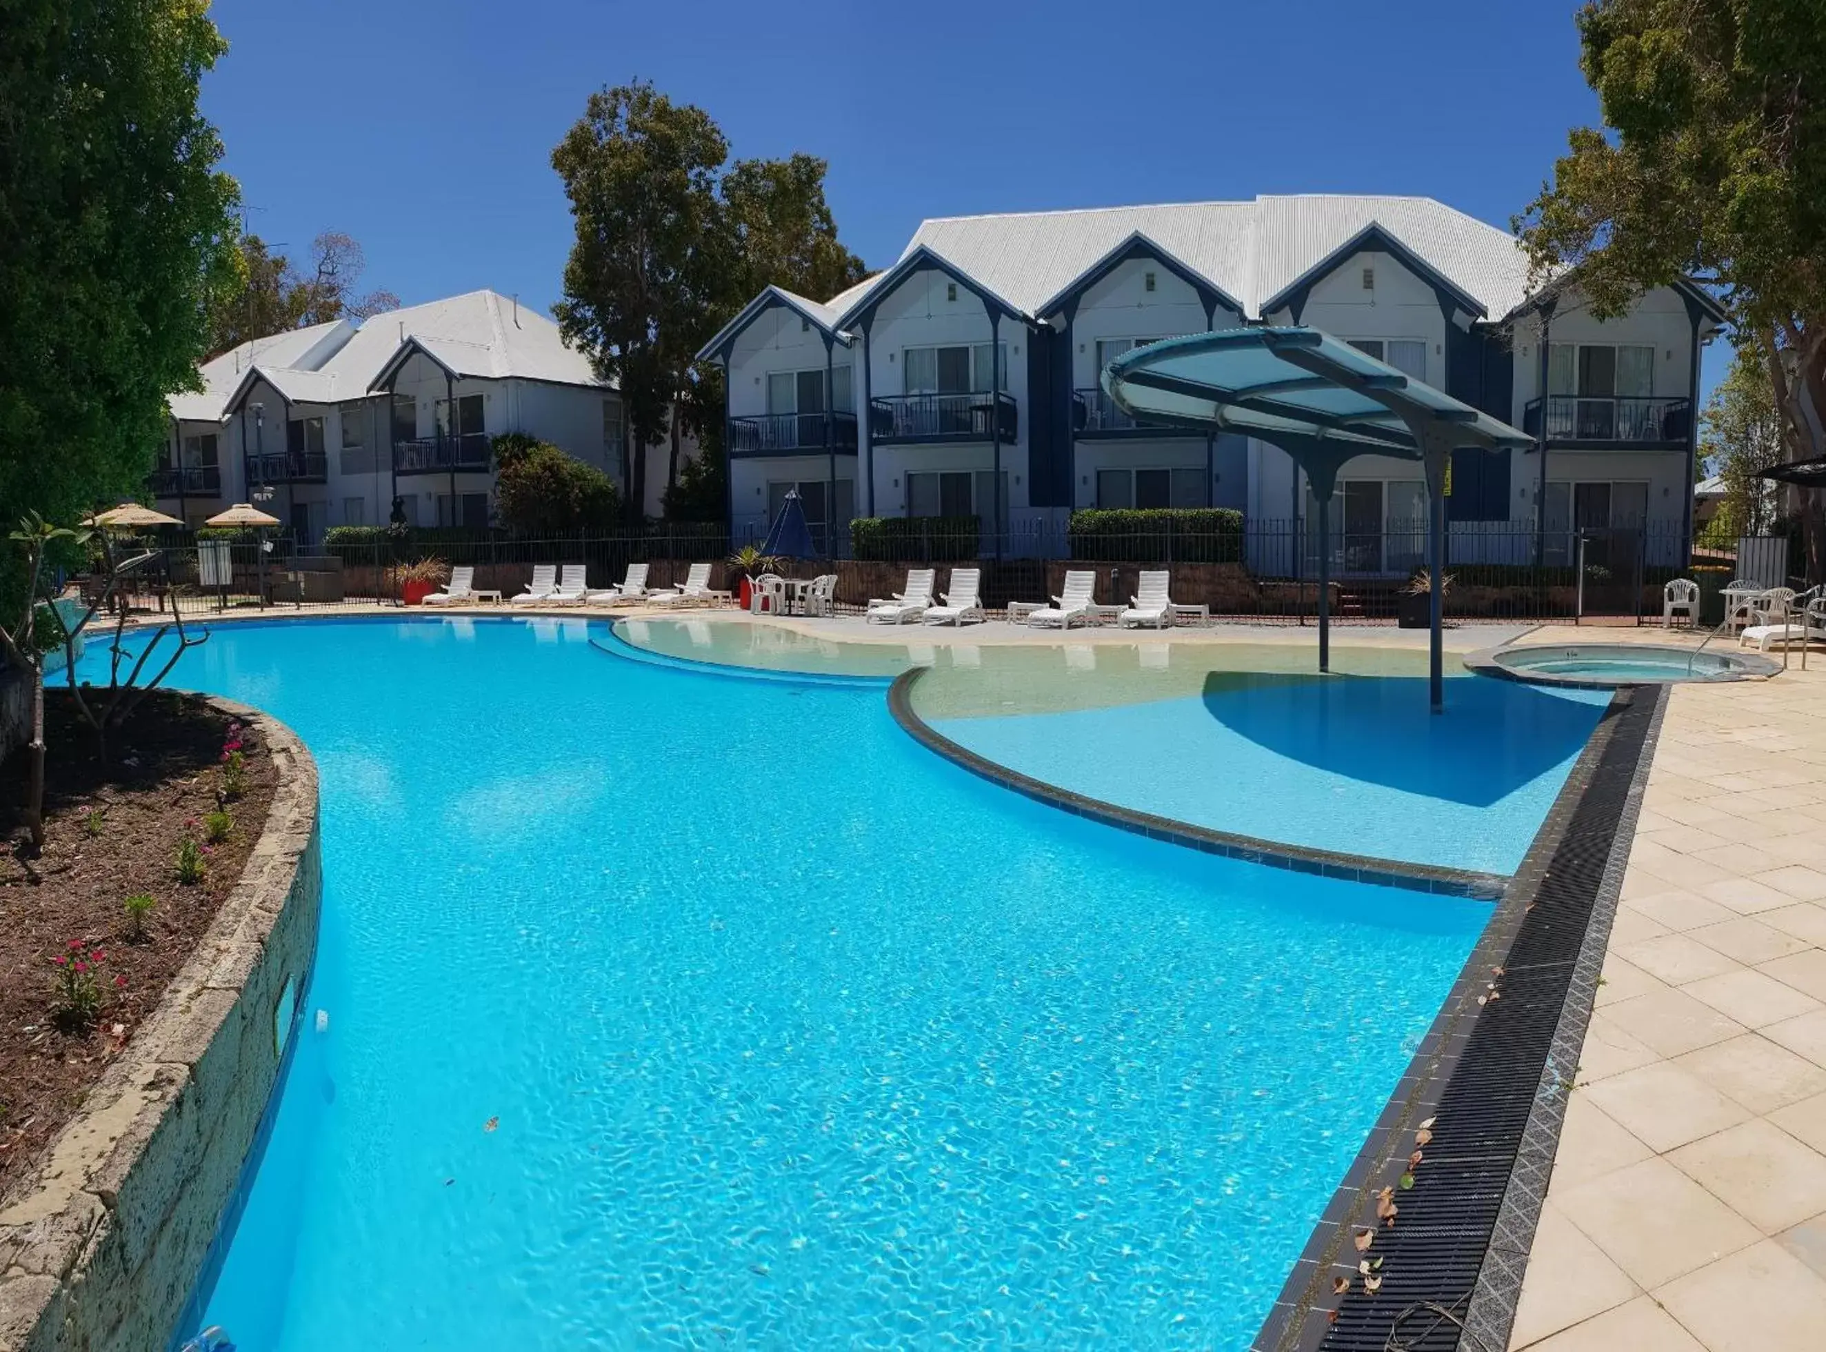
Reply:
M727 289L718 172L729 143L708 113L652 84L590 95L551 152L577 241L553 312L566 342L621 391L626 508L646 497L646 448L666 435L705 323Z

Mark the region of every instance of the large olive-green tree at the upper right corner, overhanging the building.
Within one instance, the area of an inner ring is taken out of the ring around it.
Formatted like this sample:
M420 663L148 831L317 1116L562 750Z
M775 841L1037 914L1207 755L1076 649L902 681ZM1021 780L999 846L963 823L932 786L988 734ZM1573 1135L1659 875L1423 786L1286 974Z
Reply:
M1826 22L1817 0L1592 0L1579 66L1605 128L1579 128L1517 219L1536 278L1576 267L1620 312L1709 281L1760 353L1786 459L1826 453ZM1806 493L1808 563L1826 517Z

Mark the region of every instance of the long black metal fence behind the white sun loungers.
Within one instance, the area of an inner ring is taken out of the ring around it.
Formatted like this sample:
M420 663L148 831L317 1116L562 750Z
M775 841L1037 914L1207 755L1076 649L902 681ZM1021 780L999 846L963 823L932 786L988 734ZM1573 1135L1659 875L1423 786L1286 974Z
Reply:
M1218 618L1307 623L1318 612L1318 535L1306 519L1249 521L1242 530L1205 532L1196 539L1112 530L982 535L970 519L955 524L955 539L933 530L908 532L891 541L904 548L880 550L876 557L782 566L802 576L834 572L838 605L845 608L902 590L909 568L937 568L942 592L955 568L973 566L990 608L1059 596L1070 570L1096 576L1097 601L1125 603L1143 570L1165 570L1174 601L1207 605ZM1782 537L1740 548L1746 561L1755 559L1764 570L1791 557ZM656 586L683 581L692 563L708 563L712 585L734 590L740 576L729 554L729 535L714 524L551 539L438 530L407 541L369 539L309 550L283 537L265 544L252 535L199 539L159 550L135 576L126 601L153 612L183 605L186 614L398 605L415 576L413 565L424 561L469 568L475 588L504 597L524 590L537 565L566 563L581 563L593 588L619 583L635 563L648 565ZM1424 576L1426 533L1417 523L1380 530L1344 523L1331 535L1329 555L1329 601L1338 621L1391 621L1404 610L1424 612L1424 592L1415 579ZM1684 557L1676 523L1590 526L1550 532L1545 539L1525 523L1455 523L1446 535L1446 574L1450 619L1629 621L1658 619L1662 588L1676 576L1698 579L1705 596L1716 594L1737 577L1738 557L1733 550ZM95 579L79 583L91 594L99 586Z

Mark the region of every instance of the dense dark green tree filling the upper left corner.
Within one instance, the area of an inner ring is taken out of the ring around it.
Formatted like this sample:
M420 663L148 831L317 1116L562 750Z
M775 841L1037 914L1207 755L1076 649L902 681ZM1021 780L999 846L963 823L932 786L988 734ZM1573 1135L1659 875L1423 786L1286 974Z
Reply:
M197 108L205 0L0 5L0 502L137 493L197 387L236 185ZM18 577L15 581L15 590Z

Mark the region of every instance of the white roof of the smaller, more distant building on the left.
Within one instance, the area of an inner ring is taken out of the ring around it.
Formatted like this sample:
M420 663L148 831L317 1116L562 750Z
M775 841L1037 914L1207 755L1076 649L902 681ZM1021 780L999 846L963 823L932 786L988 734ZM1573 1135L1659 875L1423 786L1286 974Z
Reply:
M173 395L172 417L223 420L252 375L299 404L365 398L400 349L416 342L458 376L601 386L590 358L564 345L559 327L493 290L259 338L201 367L205 393Z

